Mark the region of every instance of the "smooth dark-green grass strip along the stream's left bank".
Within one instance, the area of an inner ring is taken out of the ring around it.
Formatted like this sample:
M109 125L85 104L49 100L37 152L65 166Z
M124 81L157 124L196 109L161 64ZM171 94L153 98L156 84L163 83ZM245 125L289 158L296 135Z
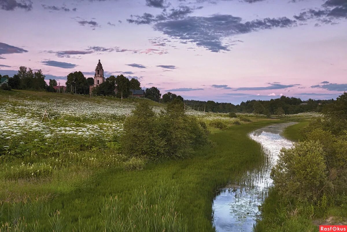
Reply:
M40 201L30 203L31 211L25 210L28 203L5 204L0 221L11 224L24 217L22 224L33 231L117 231L115 225L121 226L118 231L214 231L215 191L263 163L260 145L247 134L275 122L259 120L213 133L215 146L191 159L149 164L143 171L108 171L95 188L60 196L39 213L31 212L38 211Z

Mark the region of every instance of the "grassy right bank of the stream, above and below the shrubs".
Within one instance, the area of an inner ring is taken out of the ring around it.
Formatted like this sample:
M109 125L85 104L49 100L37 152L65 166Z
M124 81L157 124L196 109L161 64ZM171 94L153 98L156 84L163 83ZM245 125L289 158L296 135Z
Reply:
M282 135L292 141L302 141L304 139L302 129L309 123L310 121L307 120L299 121L295 125L288 126ZM327 199L327 201L332 202L333 200L338 200L340 202L346 202L345 198L343 195L336 195L335 199ZM321 206L314 206L304 202L281 201L278 192L271 189L268 198L265 199L261 206L261 220L257 222L255 231L318 232L319 225L346 225L346 204L330 205L327 202L322 204ZM317 211L317 208L320 209Z

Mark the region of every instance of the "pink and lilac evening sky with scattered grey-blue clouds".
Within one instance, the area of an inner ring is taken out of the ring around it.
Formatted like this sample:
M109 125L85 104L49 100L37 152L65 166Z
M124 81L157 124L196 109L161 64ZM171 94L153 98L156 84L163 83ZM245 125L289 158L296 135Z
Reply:
M0 0L0 74L137 78L238 104L347 91L347 0Z

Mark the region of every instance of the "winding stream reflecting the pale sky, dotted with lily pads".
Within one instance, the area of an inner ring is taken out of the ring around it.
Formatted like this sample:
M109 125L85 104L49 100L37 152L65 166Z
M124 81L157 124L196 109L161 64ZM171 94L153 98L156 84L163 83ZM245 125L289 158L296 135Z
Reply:
M213 225L217 232L253 231L260 212L258 206L272 185L271 168L276 164L282 147L290 148L293 143L281 136L283 129L295 123L276 124L253 131L249 137L259 142L268 160L266 165L246 175L245 185L229 185L220 189L213 200Z

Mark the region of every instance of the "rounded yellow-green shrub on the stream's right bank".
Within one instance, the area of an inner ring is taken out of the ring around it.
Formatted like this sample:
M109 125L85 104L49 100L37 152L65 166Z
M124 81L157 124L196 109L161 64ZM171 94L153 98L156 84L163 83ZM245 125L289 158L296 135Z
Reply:
M279 194L287 199L320 199L322 190L329 190L324 156L322 145L314 141L298 142L293 148L283 148L271 171Z

